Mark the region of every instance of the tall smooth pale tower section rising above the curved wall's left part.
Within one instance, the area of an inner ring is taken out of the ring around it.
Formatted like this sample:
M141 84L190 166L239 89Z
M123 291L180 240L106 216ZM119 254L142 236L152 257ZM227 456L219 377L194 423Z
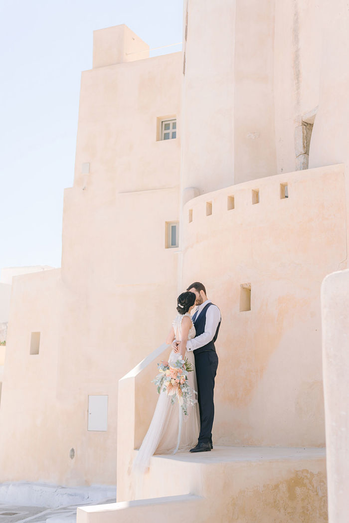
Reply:
M275 174L273 46L274 0L185 2L184 200Z

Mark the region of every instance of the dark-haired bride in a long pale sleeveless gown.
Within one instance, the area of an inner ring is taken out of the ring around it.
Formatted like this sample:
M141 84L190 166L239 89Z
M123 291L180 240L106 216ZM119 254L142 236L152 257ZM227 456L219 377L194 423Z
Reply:
M187 340L195 337L195 327L190 317L190 312L195 306L194 292L183 292L177 299L178 314L172 322L172 328L166 338L166 343L171 345L173 340L181 342L178 353L171 351L168 363L174 363L185 358L192 365L192 372L188 374L188 384L193 391L197 390L195 375L195 360L193 351L187 351ZM176 399L171 402L171 397L165 391L160 393L155 407L153 419L145 435L142 445L133 462L133 470L145 472L149 468L149 461L153 454L175 453L178 449L185 450L196 444L199 434L198 403L188 407L188 414L184 415Z

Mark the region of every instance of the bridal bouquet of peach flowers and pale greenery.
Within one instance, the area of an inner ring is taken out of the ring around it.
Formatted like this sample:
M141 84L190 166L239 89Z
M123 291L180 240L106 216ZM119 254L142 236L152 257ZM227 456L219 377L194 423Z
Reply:
M161 361L157 363L159 374L152 380L157 386L157 393L166 392L171 396L171 403L176 398L182 407L183 414L188 415L188 406L196 403L195 394L188 383L188 373L192 372L192 364L187 360L177 359L175 363ZM194 396L194 397L193 397Z

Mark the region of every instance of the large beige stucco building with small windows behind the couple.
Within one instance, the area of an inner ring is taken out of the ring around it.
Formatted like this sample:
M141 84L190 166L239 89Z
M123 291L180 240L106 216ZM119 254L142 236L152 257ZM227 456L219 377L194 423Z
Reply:
M320 288L348 267L345 4L188 0L183 51L155 58L126 26L94 32L62 267L13 285L0 481L117 482L120 503L81 521L162 503L188 521L327 520ZM219 448L210 467L154 458L146 497L165 499L132 501L150 379L193 280L222 312Z

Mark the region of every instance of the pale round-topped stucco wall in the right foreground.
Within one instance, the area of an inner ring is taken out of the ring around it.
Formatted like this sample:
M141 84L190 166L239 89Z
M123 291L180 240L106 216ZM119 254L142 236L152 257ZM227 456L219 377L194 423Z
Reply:
M321 288L329 523L349 518L349 270L327 276Z

